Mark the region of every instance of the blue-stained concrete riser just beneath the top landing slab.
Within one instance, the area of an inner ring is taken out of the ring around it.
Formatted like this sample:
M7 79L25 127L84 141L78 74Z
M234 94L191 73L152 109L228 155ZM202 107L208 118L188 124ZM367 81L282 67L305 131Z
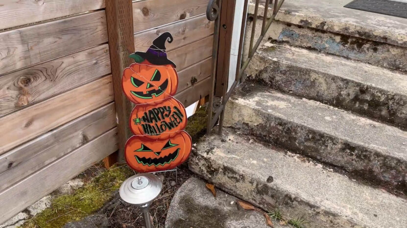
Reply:
M260 26L260 25L258 25ZM276 22L267 31L268 40L343 56L389 69L407 71L407 49L338 33Z

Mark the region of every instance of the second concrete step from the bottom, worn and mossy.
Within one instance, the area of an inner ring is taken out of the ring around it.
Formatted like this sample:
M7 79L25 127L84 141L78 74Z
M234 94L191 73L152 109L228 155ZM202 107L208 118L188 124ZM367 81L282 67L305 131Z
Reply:
M349 112L245 82L224 124L390 191L407 193L407 132Z

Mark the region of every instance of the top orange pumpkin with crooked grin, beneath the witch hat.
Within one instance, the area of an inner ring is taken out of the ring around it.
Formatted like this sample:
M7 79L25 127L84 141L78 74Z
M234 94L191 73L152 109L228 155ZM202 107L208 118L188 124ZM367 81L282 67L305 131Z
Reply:
M121 80L124 94L135 104L156 104L174 96L178 88L178 74L171 64L154 65L147 60L125 68Z

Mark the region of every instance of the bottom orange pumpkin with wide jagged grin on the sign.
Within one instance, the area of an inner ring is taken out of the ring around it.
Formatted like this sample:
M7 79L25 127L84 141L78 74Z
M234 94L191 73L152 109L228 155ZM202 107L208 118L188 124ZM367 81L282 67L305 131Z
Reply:
M125 146L127 165L138 172L157 172L185 162L192 148L191 136L180 131L166 139L132 136Z

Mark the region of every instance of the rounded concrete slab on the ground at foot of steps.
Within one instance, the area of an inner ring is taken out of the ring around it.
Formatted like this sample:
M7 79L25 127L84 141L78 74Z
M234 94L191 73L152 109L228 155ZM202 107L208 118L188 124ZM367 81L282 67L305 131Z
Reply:
M237 198L191 177L175 193L168 209L166 228L269 228L258 211L244 210ZM274 221L275 228L281 228Z

